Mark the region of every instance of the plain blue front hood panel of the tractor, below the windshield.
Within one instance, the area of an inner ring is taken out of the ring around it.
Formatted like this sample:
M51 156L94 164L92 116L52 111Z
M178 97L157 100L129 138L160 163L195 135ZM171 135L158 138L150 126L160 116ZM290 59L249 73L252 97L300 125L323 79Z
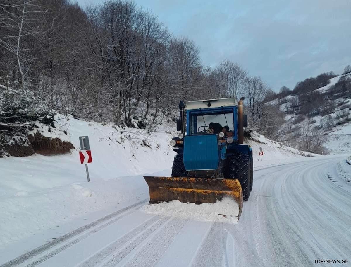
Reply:
M187 171L217 170L219 163L217 135L185 136L183 162Z

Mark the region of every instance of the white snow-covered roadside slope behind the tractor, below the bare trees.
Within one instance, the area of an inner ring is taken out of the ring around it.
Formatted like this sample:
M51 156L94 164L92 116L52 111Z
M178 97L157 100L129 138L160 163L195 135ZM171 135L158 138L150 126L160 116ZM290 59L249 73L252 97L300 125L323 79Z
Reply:
M64 117L60 123L48 131L47 125L36 122L38 128L33 131L71 142L75 147L71 153L0 158L0 217L8 218L0 221L0 247L93 211L113 210L147 199L148 187L142 175L170 175L174 152L168 143L176 134L171 131L172 125L147 134L142 129L110 127L73 117ZM89 136L92 151L90 183L84 165L79 163L78 136L82 135ZM253 148L254 168L311 155L257 133L246 142ZM259 147L265 152L262 161Z

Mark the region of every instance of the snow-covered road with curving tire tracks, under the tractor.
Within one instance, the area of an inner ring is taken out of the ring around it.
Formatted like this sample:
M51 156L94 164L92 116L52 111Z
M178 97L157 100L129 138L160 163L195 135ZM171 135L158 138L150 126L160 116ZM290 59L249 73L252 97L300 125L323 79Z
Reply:
M351 185L338 177L340 159L256 168L237 224L146 214L145 199L17 257L5 256L11 254L5 248L0 264L351 266ZM320 259L348 263L315 262Z

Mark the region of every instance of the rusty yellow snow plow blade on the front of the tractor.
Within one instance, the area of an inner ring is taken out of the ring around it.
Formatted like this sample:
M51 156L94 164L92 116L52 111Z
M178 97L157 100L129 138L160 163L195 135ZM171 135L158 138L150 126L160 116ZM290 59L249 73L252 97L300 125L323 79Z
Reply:
M149 204L179 200L183 203L215 203L230 197L243 209L243 190L237 179L144 176L149 186ZM233 209L234 210L234 209ZM221 214L226 216L227 214Z

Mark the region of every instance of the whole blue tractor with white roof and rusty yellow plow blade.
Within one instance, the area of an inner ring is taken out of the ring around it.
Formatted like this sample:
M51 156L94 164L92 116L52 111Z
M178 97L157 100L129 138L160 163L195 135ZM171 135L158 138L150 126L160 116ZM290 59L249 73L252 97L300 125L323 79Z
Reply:
M252 190L252 148L244 145L244 97L179 103L179 135L170 145L177 154L171 177L150 177L150 204L179 200L215 203L231 197L239 206Z

